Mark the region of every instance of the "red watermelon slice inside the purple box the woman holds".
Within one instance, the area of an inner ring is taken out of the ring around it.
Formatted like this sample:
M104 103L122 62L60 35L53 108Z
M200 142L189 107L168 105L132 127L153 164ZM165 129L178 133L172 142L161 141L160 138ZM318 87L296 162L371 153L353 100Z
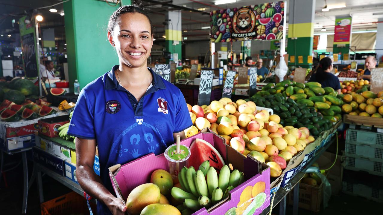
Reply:
M193 166L194 169L198 169L201 163L206 160L210 160L210 166L215 169L221 169L225 165L225 161L216 148L205 140L196 138L190 145L190 153L188 168Z

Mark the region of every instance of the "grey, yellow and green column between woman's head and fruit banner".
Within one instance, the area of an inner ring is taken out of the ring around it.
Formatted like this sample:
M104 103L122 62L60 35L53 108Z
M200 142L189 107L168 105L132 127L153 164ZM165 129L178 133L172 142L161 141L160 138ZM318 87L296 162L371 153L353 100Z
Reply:
M165 29L165 50L170 52L173 62L182 60L182 13L181 11L168 11L166 13L167 25ZM174 55L176 54L176 55ZM178 56L177 56L178 55ZM175 57L177 59L175 59ZM166 63L169 63L169 59Z

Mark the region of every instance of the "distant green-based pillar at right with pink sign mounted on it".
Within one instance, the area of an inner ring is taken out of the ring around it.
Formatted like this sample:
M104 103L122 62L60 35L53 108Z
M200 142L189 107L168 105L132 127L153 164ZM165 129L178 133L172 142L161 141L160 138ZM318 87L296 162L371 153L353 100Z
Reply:
M340 23L349 23L349 25L339 25ZM340 54L339 60L343 60L344 54L350 54L350 42L351 42L351 16L336 16L335 17L335 28L340 28L340 35L337 36L337 31L334 34L334 46L332 53ZM349 36L347 37L347 32ZM346 34L344 34L346 33ZM350 59L350 57L349 57Z

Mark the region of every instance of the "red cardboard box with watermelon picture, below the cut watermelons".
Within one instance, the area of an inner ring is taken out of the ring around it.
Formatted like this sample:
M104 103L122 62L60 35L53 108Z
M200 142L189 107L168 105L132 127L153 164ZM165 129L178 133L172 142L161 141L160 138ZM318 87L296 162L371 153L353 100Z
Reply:
M58 137L59 136L59 127L61 125L67 124L69 122L69 116L57 116L48 119L40 119L39 124L39 134L45 135L47 137Z

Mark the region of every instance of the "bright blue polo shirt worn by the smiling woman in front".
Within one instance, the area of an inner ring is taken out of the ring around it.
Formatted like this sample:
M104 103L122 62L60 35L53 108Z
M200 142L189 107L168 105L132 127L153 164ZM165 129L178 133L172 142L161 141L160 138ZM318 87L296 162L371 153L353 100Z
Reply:
M82 89L68 130L74 137L97 141L100 177L112 194L110 166L152 152L164 153L174 143L173 133L192 125L185 98L176 86L148 68L153 86L137 102L119 85L114 73L117 68L114 66ZM97 213L111 214L100 201Z

